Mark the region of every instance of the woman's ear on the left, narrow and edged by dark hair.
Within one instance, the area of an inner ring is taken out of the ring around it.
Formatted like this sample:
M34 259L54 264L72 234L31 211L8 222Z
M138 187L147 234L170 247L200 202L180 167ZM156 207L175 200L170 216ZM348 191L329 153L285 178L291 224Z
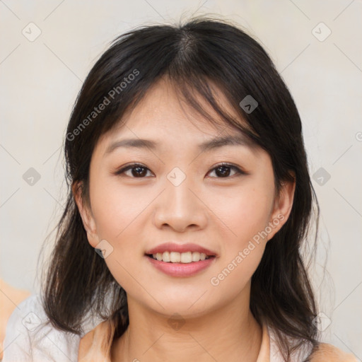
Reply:
M91 206L82 197L83 182L76 182L71 190L73 192L76 205L78 206L79 214L83 221L83 226L86 229L88 242L95 247L100 242L98 238L97 228L95 226L95 220L91 211Z

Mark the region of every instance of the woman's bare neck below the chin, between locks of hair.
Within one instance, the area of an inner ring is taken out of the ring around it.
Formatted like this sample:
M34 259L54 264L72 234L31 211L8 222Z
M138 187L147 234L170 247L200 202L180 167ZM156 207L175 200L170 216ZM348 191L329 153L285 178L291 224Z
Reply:
M177 320L128 300L129 327L112 345L112 362L257 361L262 327L243 296L210 313ZM244 306L244 307L243 307Z

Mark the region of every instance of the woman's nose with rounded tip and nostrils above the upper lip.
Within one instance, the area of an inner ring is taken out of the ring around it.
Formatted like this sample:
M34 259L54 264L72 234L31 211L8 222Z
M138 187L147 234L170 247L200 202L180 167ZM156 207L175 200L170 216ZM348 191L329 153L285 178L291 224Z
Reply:
M165 191L160 194L155 204L155 225L158 228L169 227L179 233L187 228L205 228L208 220L207 207L189 178L178 186L166 181Z

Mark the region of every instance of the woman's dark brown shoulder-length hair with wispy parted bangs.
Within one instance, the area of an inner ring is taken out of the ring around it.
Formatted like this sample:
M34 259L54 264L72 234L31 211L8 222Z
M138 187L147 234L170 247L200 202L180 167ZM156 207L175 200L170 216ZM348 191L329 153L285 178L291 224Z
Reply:
M286 361L308 342L317 346L317 315L313 290L303 262L303 246L313 205L302 126L291 94L267 52L238 26L212 18L193 18L179 25L148 25L117 37L95 63L81 91L66 130L68 196L57 226L42 303L49 321L81 334L87 313L117 321L115 338L129 325L127 294L88 243L74 199L78 187L87 202L91 156L100 136L167 78L186 103L216 123L195 94L223 120L237 127L271 157L276 191L282 182L296 182L288 220L269 240L252 276L250 310L259 322L274 328ZM235 118L217 101L213 86L228 99ZM240 106L247 95L257 107ZM95 110L101 103L102 112ZM319 210L319 208L317 207ZM110 303L107 303L109 296Z

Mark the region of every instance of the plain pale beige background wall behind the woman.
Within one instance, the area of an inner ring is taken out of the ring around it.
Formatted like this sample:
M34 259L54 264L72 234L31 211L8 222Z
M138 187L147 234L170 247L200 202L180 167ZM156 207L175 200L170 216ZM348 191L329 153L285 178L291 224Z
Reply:
M37 257L64 204L62 140L95 59L136 25L205 13L257 37L296 100L310 173L324 169L313 180L321 207L318 283L328 248L318 287L331 321L323 334L361 360L361 0L0 1L0 277L38 291ZM29 168L40 175L33 185L23 179Z

